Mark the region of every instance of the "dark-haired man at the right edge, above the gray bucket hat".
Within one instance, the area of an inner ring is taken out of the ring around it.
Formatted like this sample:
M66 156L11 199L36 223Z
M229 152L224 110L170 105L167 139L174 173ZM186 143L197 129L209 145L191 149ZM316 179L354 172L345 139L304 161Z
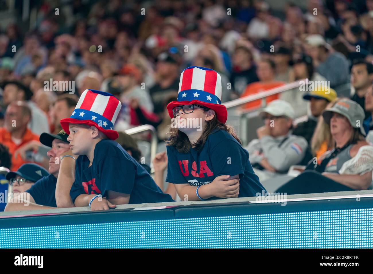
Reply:
M365 111L365 119L370 116L370 111L365 110L364 95L373 82L373 64L364 60L355 60L351 68L351 85L355 89L355 94L351 100L355 101Z

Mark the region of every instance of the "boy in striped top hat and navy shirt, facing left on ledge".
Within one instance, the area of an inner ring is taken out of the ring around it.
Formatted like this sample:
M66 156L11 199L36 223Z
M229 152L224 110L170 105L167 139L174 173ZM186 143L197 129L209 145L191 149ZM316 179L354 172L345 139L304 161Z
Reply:
M173 201L150 174L114 140L120 101L112 94L85 90L70 118L60 121L76 159L75 182L70 196L76 207L92 210L116 204Z

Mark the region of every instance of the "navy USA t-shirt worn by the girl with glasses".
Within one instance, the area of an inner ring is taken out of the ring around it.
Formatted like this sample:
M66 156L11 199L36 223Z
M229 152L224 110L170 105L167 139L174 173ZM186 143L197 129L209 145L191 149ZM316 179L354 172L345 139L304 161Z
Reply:
M167 157L167 182L201 186L220 175L239 174L238 197L256 196L258 192L262 194L262 190L266 192L254 173L248 151L226 130L214 129L199 153L196 148L180 153L175 147L167 146Z

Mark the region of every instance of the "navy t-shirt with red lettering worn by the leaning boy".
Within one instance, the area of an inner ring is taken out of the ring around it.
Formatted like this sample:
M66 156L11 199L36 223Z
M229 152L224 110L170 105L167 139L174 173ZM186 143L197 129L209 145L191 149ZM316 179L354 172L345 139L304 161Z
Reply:
M95 146L93 163L86 155L76 159L75 182L70 196L73 202L81 194L107 196L112 190L130 194L129 204L173 202L163 193L150 174L117 142L103 139Z

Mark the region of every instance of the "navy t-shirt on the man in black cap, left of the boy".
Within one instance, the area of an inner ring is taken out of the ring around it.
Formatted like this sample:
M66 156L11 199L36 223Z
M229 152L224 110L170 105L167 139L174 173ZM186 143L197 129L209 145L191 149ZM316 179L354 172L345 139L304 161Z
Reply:
M46 177L37 180L31 188L26 190L29 192L35 203L38 205L47 205L48 207L57 207L56 204L56 185L57 178L49 174Z

